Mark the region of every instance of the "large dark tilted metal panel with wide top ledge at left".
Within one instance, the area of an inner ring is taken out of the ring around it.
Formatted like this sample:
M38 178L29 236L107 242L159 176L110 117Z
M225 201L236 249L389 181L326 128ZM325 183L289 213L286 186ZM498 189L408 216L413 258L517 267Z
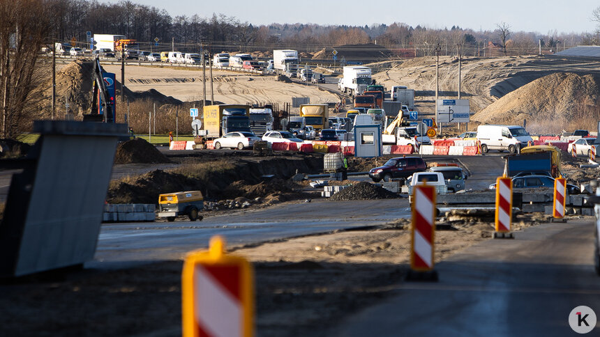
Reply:
M127 126L36 121L33 132L40 139L13 175L0 223L0 277L93 259L117 139Z

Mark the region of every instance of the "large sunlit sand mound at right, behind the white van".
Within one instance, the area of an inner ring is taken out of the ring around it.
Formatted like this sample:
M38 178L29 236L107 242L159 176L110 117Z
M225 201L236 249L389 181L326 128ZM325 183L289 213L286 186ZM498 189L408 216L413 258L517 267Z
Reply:
M587 104L595 104L599 86L592 75L580 76L569 72L547 75L525 84L504 95L486 109L476 113L472 120L481 123L523 125L527 120L530 132L552 132L537 130L537 125L562 128Z

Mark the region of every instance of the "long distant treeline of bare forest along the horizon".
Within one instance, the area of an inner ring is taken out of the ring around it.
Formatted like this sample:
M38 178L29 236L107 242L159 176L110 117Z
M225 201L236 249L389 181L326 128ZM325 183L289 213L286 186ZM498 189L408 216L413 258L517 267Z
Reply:
M269 24L254 26L235 17L213 14L172 17L166 10L131 1L98 3L96 0L50 0L50 13L55 22L49 39L68 41L75 38L82 45L86 32L121 34L140 42L142 49L154 46L156 50L171 49L172 43L181 50L193 49L201 43L213 49L268 51L293 48L301 52L317 52L325 47L373 43L402 51L412 50L414 56L481 55L500 50L508 55L536 54L564 49L575 45L597 43L596 33L559 35L556 31L544 35L515 32L510 22L498 22L495 31L473 31L452 26L430 29L426 26L372 24L370 26L324 26L320 24ZM504 29L503 29L504 28ZM502 33L504 38L502 38Z

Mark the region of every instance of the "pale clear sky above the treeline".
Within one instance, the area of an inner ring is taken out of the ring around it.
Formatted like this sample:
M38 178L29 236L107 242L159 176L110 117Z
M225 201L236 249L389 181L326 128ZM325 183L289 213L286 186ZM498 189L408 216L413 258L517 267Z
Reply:
M506 22L511 31L542 34L592 32L592 10L600 6L592 0L347 0L347 1L248 1L248 0L132 0L167 10L170 15L210 17L223 13L250 24L314 23L365 24L404 22L410 26L450 29L460 26L474 31L494 30ZM116 1L104 1L114 3Z

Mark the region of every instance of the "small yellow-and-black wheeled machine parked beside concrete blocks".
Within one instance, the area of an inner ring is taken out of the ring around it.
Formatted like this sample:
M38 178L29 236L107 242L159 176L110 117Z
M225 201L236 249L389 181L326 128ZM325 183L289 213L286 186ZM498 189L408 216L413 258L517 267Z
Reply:
M200 191L184 191L160 194L158 196L158 217L175 221L178 215L187 215L191 221L202 220L198 214L204 209L204 198Z

